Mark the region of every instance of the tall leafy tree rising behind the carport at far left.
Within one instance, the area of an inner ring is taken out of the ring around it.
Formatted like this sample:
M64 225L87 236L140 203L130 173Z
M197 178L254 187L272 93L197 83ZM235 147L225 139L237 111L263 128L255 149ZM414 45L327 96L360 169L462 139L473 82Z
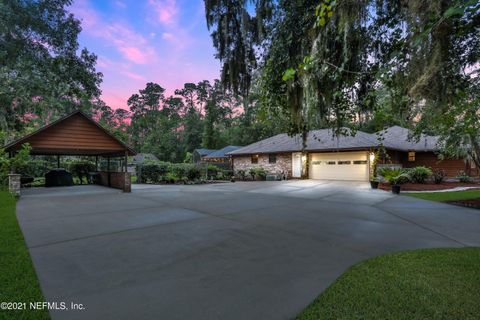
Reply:
M96 56L77 54L80 22L70 0L0 2L0 129L12 136L24 115L44 123L78 106L90 109L100 94Z

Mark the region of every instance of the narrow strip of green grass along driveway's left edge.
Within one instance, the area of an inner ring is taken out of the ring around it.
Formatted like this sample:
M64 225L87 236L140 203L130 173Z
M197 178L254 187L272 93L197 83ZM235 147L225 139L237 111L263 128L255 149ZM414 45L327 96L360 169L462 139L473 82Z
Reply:
M0 191L0 302L26 302L27 310L0 310L0 319L50 319L47 310L29 310L44 301L15 215L15 198Z

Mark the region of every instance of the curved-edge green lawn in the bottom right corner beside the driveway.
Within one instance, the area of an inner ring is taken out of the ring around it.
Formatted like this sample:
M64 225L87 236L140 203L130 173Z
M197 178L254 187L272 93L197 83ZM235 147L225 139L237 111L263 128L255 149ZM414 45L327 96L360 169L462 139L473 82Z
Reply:
M478 319L480 248L428 249L361 262L298 317Z

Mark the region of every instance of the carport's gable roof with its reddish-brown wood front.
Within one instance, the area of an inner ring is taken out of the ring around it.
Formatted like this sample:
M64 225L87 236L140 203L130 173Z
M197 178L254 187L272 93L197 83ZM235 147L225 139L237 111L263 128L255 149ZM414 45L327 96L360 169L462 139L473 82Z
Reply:
M16 151L29 143L31 154L135 155L136 152L80 110L76 110L31 134L7 144Z

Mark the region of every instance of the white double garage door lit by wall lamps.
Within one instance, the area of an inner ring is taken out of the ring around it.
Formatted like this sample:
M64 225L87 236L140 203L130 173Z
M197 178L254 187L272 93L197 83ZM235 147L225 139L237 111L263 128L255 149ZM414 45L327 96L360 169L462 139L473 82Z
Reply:
M367 152L312 153L310 178L368 181Z

